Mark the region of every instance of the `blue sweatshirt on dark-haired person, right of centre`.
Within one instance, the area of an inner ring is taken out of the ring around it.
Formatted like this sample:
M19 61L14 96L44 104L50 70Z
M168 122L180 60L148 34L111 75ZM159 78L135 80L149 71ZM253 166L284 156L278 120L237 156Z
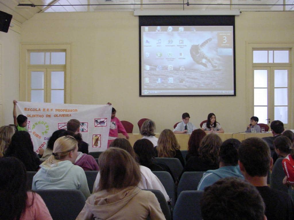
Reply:
M207 170L203 173L203 177L198 184L197 190L204 190L205 187L208 187L219 179L225 177L239 177L244 179L239 165L220 167L217 170Z

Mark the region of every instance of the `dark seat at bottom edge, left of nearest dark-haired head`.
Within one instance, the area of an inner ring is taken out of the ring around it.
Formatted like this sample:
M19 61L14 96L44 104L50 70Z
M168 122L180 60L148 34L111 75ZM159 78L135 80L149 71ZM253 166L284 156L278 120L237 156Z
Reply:
M183 191L173 209L173 220L201 220L200 199L203 191Z

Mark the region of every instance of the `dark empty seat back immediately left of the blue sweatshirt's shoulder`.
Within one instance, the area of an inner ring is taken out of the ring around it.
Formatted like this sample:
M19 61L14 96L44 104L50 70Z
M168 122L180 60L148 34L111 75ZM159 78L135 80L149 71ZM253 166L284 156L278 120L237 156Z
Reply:
M177 195L186 190L197 190L198 184L205 171L183 172L177 188Z

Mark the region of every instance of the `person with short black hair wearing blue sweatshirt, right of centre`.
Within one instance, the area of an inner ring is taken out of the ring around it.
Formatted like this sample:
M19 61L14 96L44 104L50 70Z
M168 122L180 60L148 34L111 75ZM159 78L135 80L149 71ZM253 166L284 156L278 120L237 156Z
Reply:
M234 138L228 139L220 145L218 153L219 167L217 170L207 170L198 184L197 190L204 190L216 181L225 177L239 177L244 179L238 165L238 148L240 141Z

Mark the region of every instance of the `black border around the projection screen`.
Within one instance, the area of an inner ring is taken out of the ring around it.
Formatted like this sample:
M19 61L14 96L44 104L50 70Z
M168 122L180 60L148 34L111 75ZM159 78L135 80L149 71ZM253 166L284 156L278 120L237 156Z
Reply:
M234 94L232 95L146 95L141 85L141 26L233 26ZM139 16L139 97L236 96L235 16Z

